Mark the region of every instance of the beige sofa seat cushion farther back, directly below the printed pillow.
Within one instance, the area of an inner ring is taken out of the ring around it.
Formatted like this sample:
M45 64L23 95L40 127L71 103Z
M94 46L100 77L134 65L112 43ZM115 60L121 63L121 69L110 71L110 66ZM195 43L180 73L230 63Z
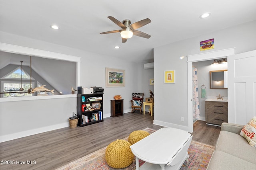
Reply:
M220 131L215 150L226 152L256 164L256 148L248 145L246 139L236 133Z

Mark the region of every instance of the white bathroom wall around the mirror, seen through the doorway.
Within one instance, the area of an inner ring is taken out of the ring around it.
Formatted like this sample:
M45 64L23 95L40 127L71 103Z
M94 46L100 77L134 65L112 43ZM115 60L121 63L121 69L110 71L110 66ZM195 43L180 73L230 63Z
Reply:
M205 121L205 102L206 98L201 98L201 86L202 88L206 88L206 96L221 96L228 97L227 89L210 89L210 71L214 70L227 70L228 64L216 64L211 65L213 60L208 61L199 61L194 62L193 66L197 68L197 76L198 76L198 96L199 96L199 110L200 110L200 120ZM217 98L217 97L216 97Z

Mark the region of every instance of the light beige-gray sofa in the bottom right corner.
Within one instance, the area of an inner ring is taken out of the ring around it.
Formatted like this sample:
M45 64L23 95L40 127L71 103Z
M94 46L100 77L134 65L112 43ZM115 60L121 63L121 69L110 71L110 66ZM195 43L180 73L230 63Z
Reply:
M207 170L256 170L256 147L239 135L243 127L222 123Z

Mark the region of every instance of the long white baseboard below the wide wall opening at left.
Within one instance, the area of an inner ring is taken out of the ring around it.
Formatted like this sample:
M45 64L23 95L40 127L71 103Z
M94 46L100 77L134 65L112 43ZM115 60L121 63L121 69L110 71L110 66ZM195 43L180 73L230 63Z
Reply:
M51 126L40 127L40 128L37 128L37 129L28 130L28 131L22 131L22 132L18 132L18 133L3 135L3 136L0 136L0 143L5 142L5 141L10 141L10 140L13 140L13 139L18 139L18 138L21 138L21 137L36 135L38 133L52 131L52 130L56 130L56 129L60 129L60 128L64 128L64 127L69 127L69 123L68 122L67 123L61 123L61 124L58 124L58 125L51 125Z

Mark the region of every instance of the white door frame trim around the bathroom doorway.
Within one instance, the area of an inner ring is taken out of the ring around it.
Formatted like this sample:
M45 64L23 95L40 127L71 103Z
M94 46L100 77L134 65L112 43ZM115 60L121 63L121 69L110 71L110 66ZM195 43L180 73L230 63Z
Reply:
M219 58L226 58L230 55L235 54L235 48L223 49L218 51L212 51L208 53L200 53L195 55L188 55L188 131L193 132L193 109L192 109L192 94L193 94L193 84L192 84L192 63L198 61L214 60Z

